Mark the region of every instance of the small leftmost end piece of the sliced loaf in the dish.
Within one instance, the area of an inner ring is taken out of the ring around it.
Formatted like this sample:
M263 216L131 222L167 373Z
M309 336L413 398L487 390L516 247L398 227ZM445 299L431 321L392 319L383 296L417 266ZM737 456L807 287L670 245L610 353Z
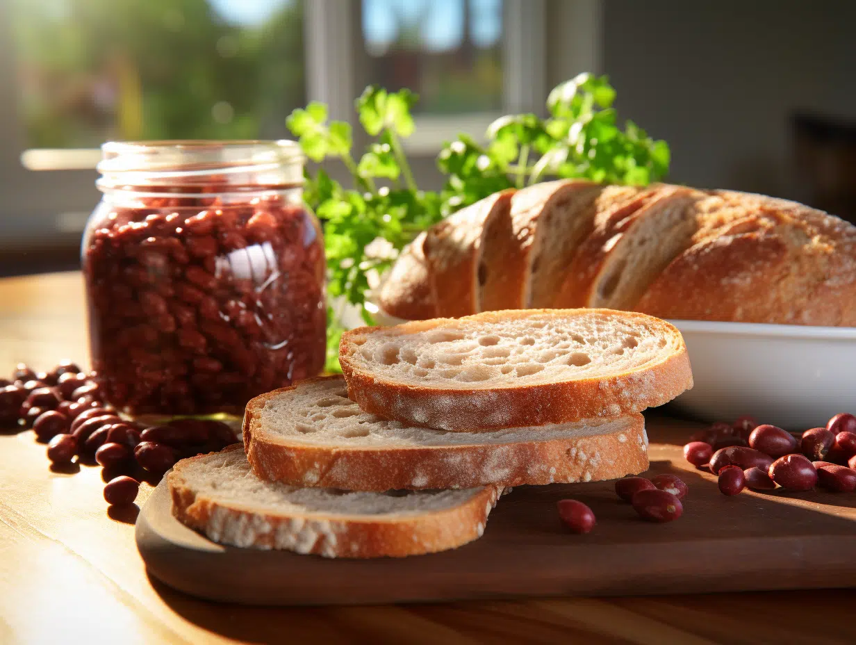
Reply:
M419 233L401 254L381 285L378 303L384 312L404 320L434 318L437 306L425 262L425 233Z

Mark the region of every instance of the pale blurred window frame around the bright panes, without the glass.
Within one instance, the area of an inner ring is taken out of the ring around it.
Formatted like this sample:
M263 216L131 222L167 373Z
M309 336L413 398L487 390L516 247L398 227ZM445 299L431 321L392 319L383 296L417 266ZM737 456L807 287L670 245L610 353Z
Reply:
M306 96L330 106L330 116L356 127L354 97L365 86L367 57L361 41L360 0L306 3ZM542 112L549 87L580 71L600 71L603 0L505 0L503 3L503 113ZM11 0L0 0L0 240L26 248L50 237L80 235L69 222L85 221L98 202L92 169L27 170L27 152L16 95ZM416 133L405 141L416 158L433 157L444 140L460 132L476 138L499 114L417 116ZM419 164L419 161L417 161ZM72 164L73 165L73 164ZM425 165L425 164L423 164Z

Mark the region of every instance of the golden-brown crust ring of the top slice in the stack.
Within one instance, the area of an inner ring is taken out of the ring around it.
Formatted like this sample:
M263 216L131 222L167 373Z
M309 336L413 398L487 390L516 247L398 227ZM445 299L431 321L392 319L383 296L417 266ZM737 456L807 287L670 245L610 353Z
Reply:
M532 314L562 319L582 312L645 320L645 324L657 326L663 336L674 337L677 349L644 369L613 376L516 387L451 389L405 385L360 368L351 358L357 351L354 338L377 329L360 327L342 334L340 344L339 362L348 381L348 396L360 408L386 419L449 432L473 432L627 415L667 403L693 386L681 332L645 314L609 309L529 309L484 312L463 320L507 320ZM433 322L439 326L452 321ZM493 414L498 406L502 406L502 415Z

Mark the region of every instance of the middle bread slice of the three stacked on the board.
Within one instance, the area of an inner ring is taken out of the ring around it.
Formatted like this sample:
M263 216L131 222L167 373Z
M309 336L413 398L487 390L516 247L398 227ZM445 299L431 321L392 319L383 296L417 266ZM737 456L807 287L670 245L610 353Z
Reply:
M341 376L253 398L244 416L244 445L263 479L361 491L598 481L648 468L639 414L447 433L364 412L348 399Z

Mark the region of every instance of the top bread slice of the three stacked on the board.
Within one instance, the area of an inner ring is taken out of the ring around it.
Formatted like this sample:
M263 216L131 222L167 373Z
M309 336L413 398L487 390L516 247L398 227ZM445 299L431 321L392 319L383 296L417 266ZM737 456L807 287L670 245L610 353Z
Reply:
M455 432L627 415L693 385L680 331L610 309L360 327L342 334L339 361L360 408Z

